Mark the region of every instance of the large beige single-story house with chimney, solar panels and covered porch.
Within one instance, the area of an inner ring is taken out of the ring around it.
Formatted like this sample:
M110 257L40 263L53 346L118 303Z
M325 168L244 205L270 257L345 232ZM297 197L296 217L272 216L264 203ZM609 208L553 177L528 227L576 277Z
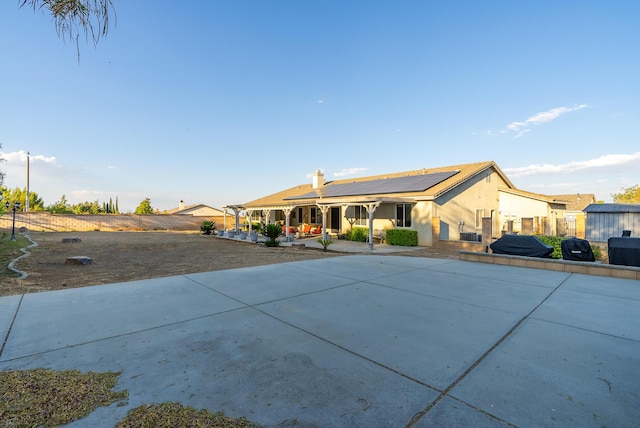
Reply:
M487 161L328 182L318 170L310 184L228 208L236 218L241 213L293 227L323 225L334 233L353 226L368 227L372 234L388 228L412 229L418 233L418 245L432 246L434 222L439 230L436 239L481 235L483 218L490 219L491 235L501 236L506 230L501 198L508 199L509 215L539 217L541 224L566 205L534 195L517 190L495 162Z

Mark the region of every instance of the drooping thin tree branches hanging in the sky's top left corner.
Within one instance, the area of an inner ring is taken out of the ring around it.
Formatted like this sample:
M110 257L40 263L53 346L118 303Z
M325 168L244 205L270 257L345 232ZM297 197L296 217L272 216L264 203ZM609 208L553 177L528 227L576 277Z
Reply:
M63 40L76 43L80 34L91 39L94 46L100 37L109 32L112 17L115 21L115 8L112 0L19 0L20 7L29 5L33 10L51 13L58 36Z

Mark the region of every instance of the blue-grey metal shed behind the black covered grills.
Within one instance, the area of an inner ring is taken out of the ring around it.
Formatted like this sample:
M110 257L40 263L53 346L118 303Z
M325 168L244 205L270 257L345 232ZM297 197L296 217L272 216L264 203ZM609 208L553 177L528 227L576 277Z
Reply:
M631 236L640 237L640 204L591 204L587 214L586 239L607 242L630 230Z

